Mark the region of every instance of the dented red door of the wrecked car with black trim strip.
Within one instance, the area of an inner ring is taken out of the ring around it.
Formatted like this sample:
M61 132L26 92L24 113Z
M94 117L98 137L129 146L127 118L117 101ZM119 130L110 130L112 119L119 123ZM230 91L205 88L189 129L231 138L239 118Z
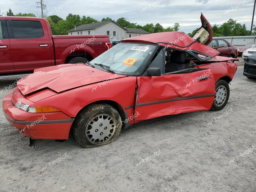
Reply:
M150 67L165 62L165 51L152 62ZM161 76L140 76L137 78L135 123L165 115L209 110L215 97L215 80L211 69L188 68Z

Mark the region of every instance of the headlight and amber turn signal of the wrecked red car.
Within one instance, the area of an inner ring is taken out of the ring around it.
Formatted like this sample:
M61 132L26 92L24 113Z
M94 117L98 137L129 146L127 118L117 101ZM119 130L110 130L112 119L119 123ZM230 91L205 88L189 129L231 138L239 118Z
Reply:
M44 107L29 107L29 105L25 105L18 101L15 106L23 111L29 113L50 113L50 112L59 112L60 110L51 107L51 106L44 106Z

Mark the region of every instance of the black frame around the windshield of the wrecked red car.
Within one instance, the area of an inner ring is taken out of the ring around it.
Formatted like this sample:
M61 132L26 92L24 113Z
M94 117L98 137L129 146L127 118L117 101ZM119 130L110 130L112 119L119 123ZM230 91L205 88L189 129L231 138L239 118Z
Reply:
M133 75L133 74L123 74L123 73L120 73L120 72L117 72L117 71L111 69L111 66L109 66L110 69L115 72L115 74L125 75L125 76L142 76L142 75L144 74L144 72L146 71L146 69L147 69L148 63L153 59L154 55L156 54L156 51L157 51L158 47L160 46L160 45L158 45L158 44L154 44L154 43L144 43L144 42L120 42L120 43L118 43L118 44L140 44L140 46L143 46L143 45L153 45L153 46L155 46L155 49L154 49L152 55L150 56L149 60L148 60L146 63L144 63L144 67L141 69L140 73L137 74L137 75ZM96 57L96 58L97 58L97 57ZM94 58L94 59L96 59L96 58ZM94 59L93 59L93 60L94 60ZM91 62L91 61L90 61L90 62ZM92 63L92 65L95 67L94 63ZM104 65L104 63L103 63L103 65ZM95 68L96 68L96 67L95 67ZM109 71L107 71L107 70L104 69L104 68L97 68L97 69L102 70L102 71L106 71L106 72L110 73Z

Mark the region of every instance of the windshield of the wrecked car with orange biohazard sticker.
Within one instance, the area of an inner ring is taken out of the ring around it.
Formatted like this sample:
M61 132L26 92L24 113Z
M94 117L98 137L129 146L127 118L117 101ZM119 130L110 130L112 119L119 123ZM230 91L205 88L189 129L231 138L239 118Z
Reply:
M138 76L155 52L156 47L156 45L149 44L120 43L90 63L100 70L109 71L107 70L109 68L118 74Z

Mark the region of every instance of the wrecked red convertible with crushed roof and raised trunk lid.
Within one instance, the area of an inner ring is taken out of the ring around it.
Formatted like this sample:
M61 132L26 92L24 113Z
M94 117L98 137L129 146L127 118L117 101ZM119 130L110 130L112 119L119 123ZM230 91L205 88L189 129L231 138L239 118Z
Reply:
M4 114L32 139L66 140L73 132L82 147L92 148L147 119L220 110L237 59L207 46L212 28L201 20L193 38L180 32L137 36L86 64L36 69L4 98Z

